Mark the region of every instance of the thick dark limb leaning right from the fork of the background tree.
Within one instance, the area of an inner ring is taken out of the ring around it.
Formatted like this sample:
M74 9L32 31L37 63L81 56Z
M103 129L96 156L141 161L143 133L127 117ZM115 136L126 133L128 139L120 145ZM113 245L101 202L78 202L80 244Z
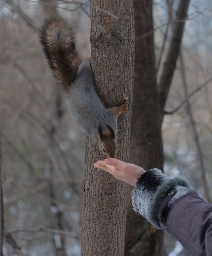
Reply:
M173 29L172 39L169 45L164 68L159 81L159 98L161 110L161 123L164 116L164 107L166 104L169 88L171 85L172 77L175 71L177 58L180 51L180 46L183 38L183 31L185 26L185 19L187 17L187 10L190 0L180 0L176 20L184 20L183 22L175 23Z

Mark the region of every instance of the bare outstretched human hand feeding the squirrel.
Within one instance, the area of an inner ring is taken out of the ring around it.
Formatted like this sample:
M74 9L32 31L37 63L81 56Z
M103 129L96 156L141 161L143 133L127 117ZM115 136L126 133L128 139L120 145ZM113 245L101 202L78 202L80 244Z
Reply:
M145 173L145 170L135 164L122 162L115 158L107 158L104 161L99 160L94 167L102 169L118 180L122 180L135 187L137 179Z

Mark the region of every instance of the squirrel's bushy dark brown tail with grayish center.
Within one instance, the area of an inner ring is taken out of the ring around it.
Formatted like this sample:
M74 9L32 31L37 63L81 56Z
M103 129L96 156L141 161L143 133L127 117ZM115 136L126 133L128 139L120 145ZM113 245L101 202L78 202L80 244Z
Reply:
M68 92L81 63L73 29L64 19L49 17L40 29L40 42L54 77L61 89Z

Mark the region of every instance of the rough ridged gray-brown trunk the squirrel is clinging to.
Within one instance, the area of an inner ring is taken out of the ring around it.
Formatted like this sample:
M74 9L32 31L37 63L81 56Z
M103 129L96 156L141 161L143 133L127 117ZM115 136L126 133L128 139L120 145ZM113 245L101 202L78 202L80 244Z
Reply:
M106 107L121 104L129 96L129 110L118 118L118 158L128 161L130 148L131 102L134 73L133 2L90 0L90 5L119 16L91 8L91 66L96 90ZM119 12L121 8L121 12ZM119 15L120 14L120 15ZM82 198L81 255L124 254L127 185L93 164L104 159L98 146L86 138Z

